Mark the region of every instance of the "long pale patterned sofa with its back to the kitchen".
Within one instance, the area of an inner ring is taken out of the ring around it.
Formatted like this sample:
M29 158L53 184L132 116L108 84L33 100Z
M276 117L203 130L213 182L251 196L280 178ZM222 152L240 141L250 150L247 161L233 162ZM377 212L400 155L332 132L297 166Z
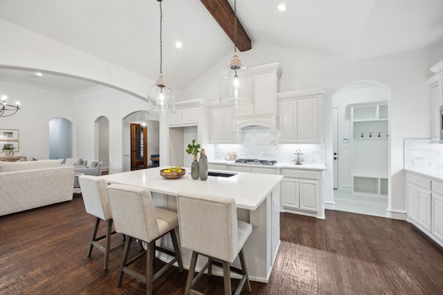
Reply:
M0 216L72 200L73 183L62 160L0 162Z

